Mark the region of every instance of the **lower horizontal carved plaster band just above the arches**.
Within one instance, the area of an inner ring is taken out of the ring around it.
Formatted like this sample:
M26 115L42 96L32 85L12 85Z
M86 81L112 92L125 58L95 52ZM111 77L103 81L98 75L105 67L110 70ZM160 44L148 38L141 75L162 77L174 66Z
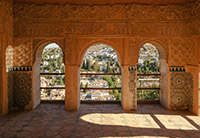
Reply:
M189 36L186 23L134 23L134 22L15 22L15 37L67 37L68 35L118 35L135 37ZM183 29L184 28L184 29ZM187 31L185 31L187 30Z

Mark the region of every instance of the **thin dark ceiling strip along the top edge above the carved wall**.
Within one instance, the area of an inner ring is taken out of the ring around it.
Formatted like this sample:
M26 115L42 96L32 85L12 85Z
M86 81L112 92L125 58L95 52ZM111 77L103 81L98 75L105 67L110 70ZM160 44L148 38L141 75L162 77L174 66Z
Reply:
M14 0L15 3L36 4L115 4L115 3L138 3L138 4L182 4L195 2L196 0Z

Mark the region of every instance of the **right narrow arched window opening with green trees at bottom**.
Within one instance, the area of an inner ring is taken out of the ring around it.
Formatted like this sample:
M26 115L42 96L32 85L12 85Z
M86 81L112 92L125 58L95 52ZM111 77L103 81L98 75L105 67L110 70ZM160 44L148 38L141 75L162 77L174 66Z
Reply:
M152 44L141 47L137 73L137 99L160 100L159 52Z

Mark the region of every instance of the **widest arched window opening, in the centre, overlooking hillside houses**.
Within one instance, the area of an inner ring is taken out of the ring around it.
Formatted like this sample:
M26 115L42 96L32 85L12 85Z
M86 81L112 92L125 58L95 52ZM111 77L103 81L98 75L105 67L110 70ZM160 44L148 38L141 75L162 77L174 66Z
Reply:
M121 100L121 67L112 47L98 43L86 51L80 68L80 100Z

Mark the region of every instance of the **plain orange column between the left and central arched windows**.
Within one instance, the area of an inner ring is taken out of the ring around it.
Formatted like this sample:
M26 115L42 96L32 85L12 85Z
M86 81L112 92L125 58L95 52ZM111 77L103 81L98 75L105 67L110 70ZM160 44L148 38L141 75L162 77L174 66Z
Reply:
M79 108L79 66L65 66L65 109Z

